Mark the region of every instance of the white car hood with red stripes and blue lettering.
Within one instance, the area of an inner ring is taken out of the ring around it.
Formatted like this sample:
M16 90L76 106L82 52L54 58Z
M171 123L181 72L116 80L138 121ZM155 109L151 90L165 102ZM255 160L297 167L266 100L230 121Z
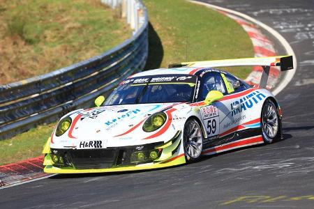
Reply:
M72 118L70 128L61 137L54 136L54 143L76 146L75 141L106 139L107 146L117 146L122 143L121 140L124 141L122 144L134 144L144 134L149 134L140 131L149 115L176 104L129 104L80 109L69 115ZM133 132L135 129L137 131Z

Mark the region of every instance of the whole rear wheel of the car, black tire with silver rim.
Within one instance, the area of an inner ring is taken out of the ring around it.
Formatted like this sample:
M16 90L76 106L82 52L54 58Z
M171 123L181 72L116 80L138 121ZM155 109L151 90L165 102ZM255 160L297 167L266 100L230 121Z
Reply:
M280 119L276 104L271 100L266 100L262 107L261 126L262 137L265 144L276 141L280 135Z

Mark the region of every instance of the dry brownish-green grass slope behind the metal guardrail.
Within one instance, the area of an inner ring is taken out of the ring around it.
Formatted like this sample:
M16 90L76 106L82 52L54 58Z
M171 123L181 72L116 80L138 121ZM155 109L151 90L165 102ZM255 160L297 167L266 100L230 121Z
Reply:
M130 36L100 0L0 0L0 84L88 59Z

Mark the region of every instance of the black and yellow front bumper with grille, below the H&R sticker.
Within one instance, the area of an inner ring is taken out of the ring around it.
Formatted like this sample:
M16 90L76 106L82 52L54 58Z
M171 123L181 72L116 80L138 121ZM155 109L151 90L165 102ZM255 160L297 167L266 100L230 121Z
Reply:
M152 150L158 152L158 155L155 153L153 158L149 157ZM158 169L184 164L186 160L182 150L181 131L164 144L161 142L105 149L55 149L49 148L46 144L43 150L44 171L45 173L100 173ZM135 153L142 153L145 158L136 161ZM54 157L62 160L53 160Z

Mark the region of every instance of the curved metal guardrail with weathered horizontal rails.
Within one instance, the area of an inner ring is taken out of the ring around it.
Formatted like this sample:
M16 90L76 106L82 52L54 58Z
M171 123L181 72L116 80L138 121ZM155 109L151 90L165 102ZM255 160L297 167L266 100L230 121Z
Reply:
M91 59L45 75L0 86L0 139L56 121L68 111L90 107L126 77L142 70L148 53L147 10L140 0L103 0L121 7L133 36Z

